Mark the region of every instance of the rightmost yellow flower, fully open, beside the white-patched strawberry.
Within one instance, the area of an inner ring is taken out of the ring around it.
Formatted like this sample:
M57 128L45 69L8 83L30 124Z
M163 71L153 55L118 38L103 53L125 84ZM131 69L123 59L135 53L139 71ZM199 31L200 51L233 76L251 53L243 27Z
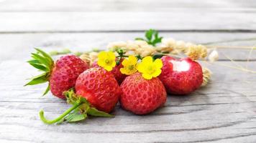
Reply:
M145 79L152 79L161 74L163 62L161 59L155 59L153 61L152 56L146 56L142 59L142 62L138 65L138 71L142 73L142 77Z

